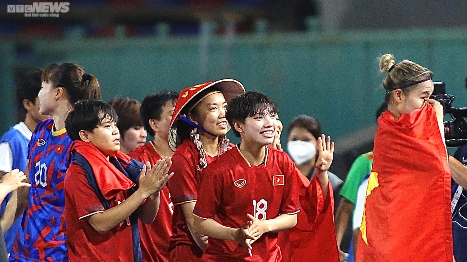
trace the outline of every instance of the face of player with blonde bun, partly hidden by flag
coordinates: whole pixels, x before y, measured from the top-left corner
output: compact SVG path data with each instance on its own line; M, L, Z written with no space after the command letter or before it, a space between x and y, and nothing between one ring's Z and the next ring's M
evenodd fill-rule
M425 99L429 98L433 93L433 81L428 80L421 82L414 87L409 87L410 90L403 92L401 89L393 91L393 101L396 101L396 108L399 114L409 114L417 108L424 105Z

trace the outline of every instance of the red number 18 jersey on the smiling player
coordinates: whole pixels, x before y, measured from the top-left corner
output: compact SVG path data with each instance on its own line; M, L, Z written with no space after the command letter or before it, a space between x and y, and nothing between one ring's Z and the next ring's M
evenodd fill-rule
M247 214L260 220L300 211L299 174L289 155L266 147L264 164L252 166L237 148L221 155L203 170L193 214L240 228ZM253 256L238 242L209 238L204 261L276 262L282 258L277 233L266 233L252 245Z

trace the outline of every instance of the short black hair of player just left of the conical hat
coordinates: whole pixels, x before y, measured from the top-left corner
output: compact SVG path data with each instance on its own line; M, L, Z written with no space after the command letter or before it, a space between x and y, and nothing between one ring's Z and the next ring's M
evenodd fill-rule
M141 102L140 114L144 128L149 135L154 137L154 130L149 125L149 119L161 120L162 107L167 103L175 105L178 99L178 92L160 91L156 94L147 95Z

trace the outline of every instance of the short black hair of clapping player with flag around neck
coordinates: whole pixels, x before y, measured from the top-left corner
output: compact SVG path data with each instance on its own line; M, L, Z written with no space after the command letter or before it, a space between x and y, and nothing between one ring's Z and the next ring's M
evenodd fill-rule
M68 114L65 128L71 140L81 140L79 131L92 132L107 117L110 117L110 121L118 121L117 113L106 102L96 99L79 100Z

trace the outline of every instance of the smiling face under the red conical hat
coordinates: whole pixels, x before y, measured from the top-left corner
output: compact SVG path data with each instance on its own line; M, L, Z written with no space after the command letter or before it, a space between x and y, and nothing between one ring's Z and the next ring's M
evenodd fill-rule
M211 134L221 136L227 134L226 110L227 101L224 95L218 92L205 97L194 108L194 114L190 114L190 118Z

